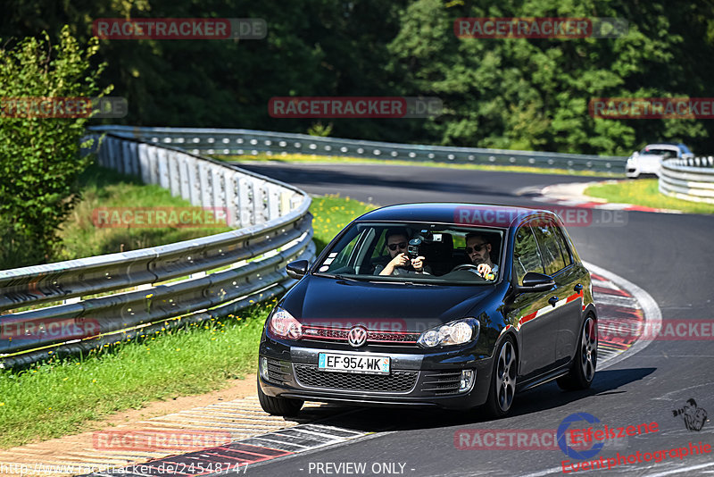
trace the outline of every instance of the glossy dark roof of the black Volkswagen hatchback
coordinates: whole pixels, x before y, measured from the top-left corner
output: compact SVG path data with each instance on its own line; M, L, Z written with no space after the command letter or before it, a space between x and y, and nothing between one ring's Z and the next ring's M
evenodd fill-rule
M387 205L361 215L359 222L431 222L468 226L509 227L529 215L557 217L547 210L511 205L431 202ZM556 222L557 223L557 222Z

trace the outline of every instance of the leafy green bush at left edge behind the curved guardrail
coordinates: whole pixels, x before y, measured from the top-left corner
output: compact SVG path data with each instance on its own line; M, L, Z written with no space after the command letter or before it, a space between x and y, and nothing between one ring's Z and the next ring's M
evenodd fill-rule
M97 48L92 40L82 50L65 27L57 45L45 34L0 50L0 97L97 96L104 68L90 66ZM0 114L0 263L10 267L54 255L57 228L79 201L77 178L91 161L79 157L87 118L28 116Z

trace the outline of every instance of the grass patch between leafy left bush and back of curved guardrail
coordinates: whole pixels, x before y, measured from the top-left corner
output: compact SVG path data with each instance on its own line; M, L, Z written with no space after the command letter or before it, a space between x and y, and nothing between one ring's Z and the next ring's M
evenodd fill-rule
M62 224L62 251L55 261L155 247L231 230L225 224L201 228L98 228L93 222L93 212L101 207L153 210L154 207L192 205L181 197L171 197L165 188L145 185L135 177L96 165L89 167L80 181L83 198Z

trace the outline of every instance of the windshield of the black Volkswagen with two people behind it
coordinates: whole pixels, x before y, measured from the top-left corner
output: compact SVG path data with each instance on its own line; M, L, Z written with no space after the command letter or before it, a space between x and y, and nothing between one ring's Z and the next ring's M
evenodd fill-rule
M494 284L504 230L422 222L356 222L318 274L369 281Z

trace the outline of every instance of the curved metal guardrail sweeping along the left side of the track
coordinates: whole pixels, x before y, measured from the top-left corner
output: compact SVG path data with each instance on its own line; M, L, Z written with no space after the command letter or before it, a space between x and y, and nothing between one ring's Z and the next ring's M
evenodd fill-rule
M0 312L63 301L0 315L0 367L34 362L47 356L48 347L54 356L87 351L153 326L173 326L186 314L192 315L183 323L235 313L291 287L295 280L287 277L285 265L315 255L311 199L298 188L112 134L95 152L99 163L170 188L193 205L232 210L240 229L0 271ZM162 284L177 278L184 280ZM117 290L125 291L112 293ZM105 296L90 297L98 294ZM78 331L79 338L72 334Z

